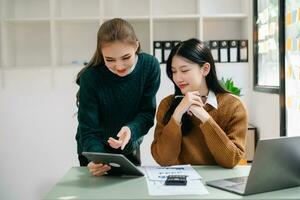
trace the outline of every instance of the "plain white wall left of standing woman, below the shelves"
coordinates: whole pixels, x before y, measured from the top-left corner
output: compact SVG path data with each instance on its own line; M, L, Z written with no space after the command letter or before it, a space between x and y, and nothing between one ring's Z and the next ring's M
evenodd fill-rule
M5 72L0 90L0 199L41 199L78 165L77 70Z

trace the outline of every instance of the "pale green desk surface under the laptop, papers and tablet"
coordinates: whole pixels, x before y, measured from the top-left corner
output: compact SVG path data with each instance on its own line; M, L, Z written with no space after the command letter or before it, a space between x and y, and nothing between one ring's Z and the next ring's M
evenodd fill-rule
M194 166L203 181L247 176L250 166L224 169L218 166ZM275 175L276 176L276 175ZM145 177L93 177L85 167L73 167L45 196L46 199L300 199L300 187L249 196L206 186L207 195L149 196Z

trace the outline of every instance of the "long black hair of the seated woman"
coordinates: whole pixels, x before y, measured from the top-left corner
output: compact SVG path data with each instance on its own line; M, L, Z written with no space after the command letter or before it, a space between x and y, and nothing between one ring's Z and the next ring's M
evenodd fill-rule
M169 58L167 60L167 76L173 82L175 87L175 95L182 95L180 89L173 81L173 73L172 73L172 60L175 55L186 58L194 63L199 64L199 67L203 67L205 63L210 64L210 71L208 75L205 77L206 85L209 90L212 90L215 94L218 93L229 93L225 90L218 78L216 73L215 62L209 47L207 47L203 42L198 39L192 38L183 42L178 43L171 51ZM167 124L173 115L176 107L181 102L181 98L175 99L173 97L169 110L166 112L163 118L163 122ZM182 116L182 126L181 130L183 134L187 134L192 128L190 117L185 113Z

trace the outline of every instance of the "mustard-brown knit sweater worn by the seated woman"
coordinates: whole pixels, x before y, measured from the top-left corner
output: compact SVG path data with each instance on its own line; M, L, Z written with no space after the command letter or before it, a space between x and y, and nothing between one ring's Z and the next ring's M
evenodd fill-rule
M234 167L244 156L248 127L247 112L240 99L232 94L217 94L218 109L209 104L205 110L210 118L202 123L192 117L191 132L182 135L181 125L173 117L167 124L163 117L173 95L158 107L151 153L160 165L192 164Z

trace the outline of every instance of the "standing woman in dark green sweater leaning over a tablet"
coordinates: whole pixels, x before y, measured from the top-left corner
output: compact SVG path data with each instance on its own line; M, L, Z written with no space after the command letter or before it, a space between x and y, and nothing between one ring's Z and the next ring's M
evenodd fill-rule
M115 18L101 25L96 52L76 83L80 166L88 166L95 176L110 170L87 160L84 151L121 153L140 164L135 154L153 126L160 67L153 56L140 53L130 23Z

